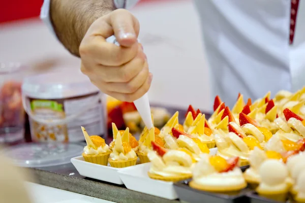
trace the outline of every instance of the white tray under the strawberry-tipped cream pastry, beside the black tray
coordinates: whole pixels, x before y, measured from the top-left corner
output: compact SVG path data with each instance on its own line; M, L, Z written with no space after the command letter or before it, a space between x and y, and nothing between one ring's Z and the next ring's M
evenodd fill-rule
M210 154L215 155L217 148L210 149ZM174 190L173 182L154 180L148 177L150 163L143 163L127 168L121 168L118 171L119 177L124 185L137 192L159 196L166 199L178 198Z

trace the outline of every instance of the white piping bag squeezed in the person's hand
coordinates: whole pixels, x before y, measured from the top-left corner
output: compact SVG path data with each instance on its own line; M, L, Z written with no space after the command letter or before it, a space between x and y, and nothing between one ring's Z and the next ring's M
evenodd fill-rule
M120 46L114 36L107 38L106 41L113 43L117 46ZM138 40L138 42L139 42L139 40ZM154 127L153 121L151 120L151 113L150 113L150 106L149 106L149 99L148 99L147 92L141 98L138 98L137 100L135 100L134 104L135 104L144 124L146 125L147 129Z

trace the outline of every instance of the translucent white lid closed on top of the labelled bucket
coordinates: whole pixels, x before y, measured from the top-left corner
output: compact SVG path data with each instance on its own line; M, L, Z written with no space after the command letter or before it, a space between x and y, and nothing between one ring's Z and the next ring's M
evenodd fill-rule
M80 71L62 71L27 77L22 94L31 98L61 99L99 91Z

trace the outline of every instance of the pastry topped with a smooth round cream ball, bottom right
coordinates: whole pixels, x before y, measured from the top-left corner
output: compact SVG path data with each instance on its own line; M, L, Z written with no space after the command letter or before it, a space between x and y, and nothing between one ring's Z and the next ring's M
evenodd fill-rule
M276 201L285 201L290 187L287 166L276 159L264 161L259 169L261 182L256 188L260 196Z

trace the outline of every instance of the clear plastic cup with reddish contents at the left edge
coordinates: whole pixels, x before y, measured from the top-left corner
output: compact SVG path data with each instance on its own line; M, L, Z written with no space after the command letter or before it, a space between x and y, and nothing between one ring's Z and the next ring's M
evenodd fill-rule
M0 143L24 139L21 82L25 67L17 62L0 63Z

